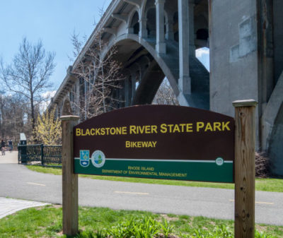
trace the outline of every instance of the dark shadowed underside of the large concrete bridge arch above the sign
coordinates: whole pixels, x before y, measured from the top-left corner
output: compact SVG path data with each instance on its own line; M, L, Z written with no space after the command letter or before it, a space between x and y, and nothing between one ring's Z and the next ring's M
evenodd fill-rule
M125 83L129 84L129 90L123 90L125 105L151 104L165 77L161 67L139 42L122 40L115 47L116 59L123 66Z

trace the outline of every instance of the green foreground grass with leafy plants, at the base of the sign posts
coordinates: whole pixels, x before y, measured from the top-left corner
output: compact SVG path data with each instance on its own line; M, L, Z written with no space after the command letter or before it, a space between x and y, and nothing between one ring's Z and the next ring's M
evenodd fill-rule
M137 221L141 221L144 225L148 224L148 222L151 223L150 231L147 230L146 226L141 229L141 226L137 225L141 223ZM160 226L160 224L163 226ZM76 237L98 238L96 231L100 230L103 234L108 232L108 234L112 234L113 238L116 238L119 237L117 235L119 232L129 232L132 229L131 227L135 227L135 232L143 232L143 234L153 232L153 228L158 227L159 230L156 232L165 234L167 231L178 237L233 237L233 221L231 220L86 207L79 208L79 229L81 233ZM256 225L256 230L256 238L283 237L283 227ZM51 205L29 208L8 215L6 218L0 219L0 237L65 237L62 235L62 207ZM121 236L121 238L125 237L127 236Z

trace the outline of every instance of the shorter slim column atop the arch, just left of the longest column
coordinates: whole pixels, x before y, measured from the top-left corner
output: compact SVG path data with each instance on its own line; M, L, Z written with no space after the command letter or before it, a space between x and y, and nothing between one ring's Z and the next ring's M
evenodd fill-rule
M164 4L165 0L156 0L156 51L166 54L166 43L164 33Z

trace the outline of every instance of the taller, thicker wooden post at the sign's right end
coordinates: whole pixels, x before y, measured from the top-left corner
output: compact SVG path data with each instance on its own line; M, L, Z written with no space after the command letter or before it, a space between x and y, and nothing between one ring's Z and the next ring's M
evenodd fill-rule
M235 238L255 237L255 100L235 107Z

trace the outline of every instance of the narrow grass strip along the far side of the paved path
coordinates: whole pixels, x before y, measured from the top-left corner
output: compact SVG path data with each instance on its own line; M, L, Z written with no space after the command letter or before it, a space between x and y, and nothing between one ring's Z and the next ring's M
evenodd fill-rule
M54 167L41 167L35 165L27 165L28 169L35 172L42 172L47 174L61 175L61 168ZM233 189L233 184L221 184L221 183L204 183L204 182L189 182L189 181L177 181L177 180L161 180L161 179L137 179L137 178L125 178L125 177L109 177L109 176L95 176L80 174L79 177L87 177L91 179L102 179L121 182L132 183L144 183L144 184L166 184L177 186L199 186L218 189ZM255 179L255 189L257 191L276 191L283 192L283 179Z

